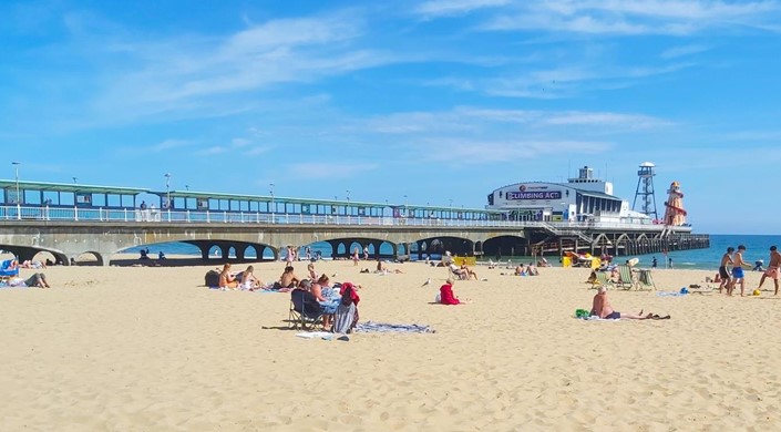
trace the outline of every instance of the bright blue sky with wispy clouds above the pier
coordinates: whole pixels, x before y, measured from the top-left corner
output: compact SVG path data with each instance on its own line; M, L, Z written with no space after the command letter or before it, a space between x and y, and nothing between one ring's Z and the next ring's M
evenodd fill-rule
M657 165L700 233L781 234L781 2L3 1L20 177L482 207ZM661 209L660 209L661 210Z

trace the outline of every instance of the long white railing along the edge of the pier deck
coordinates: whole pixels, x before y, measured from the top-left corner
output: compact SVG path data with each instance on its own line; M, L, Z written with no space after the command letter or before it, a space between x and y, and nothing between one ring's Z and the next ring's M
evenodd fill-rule
M122 223L199 223L199 224L280 224L280 225L358 225L431 227L507 227L546 228L559 234L578 234L585 229L641 229L660 232L664 225L619 224L615 222L534 222L411 218L390 216L345 216L268 214L224 210L168 210L133 208L24 207L0 206L0 220L74 220Z

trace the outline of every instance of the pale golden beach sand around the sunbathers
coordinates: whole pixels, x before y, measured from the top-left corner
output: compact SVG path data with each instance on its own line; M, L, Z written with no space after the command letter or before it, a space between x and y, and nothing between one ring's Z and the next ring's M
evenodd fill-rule
M268 281L282 264L255 267ZM584 321L573 315L595 294L586 269L515 277L476 267L487 281L458 281L456 296L472 302L448 307L431 304L443 268L361 267L373 264L317 264L364 287L361 320L436 332L298 338L287 329L289 295L209 290L213 266L53 267L52 289L0 289L0 430L781 428L772 292L610 290L619 311L672 318ZM296 269L304 276L306 264ZM654 272L660 290L676 291L712 274ZM748 272L750 290L759 277Z

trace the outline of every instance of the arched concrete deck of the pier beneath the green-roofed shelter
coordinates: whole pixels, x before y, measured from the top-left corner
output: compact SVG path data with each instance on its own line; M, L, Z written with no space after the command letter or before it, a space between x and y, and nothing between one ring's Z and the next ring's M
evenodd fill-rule
M0 207L0 215L7 208ZM7 214L7 213L6 213ZM445 250L460 256L516 256L542 254L561 256L564 250L590 251L614 256L707 248L707 235L693 235L662 226L610 227L506 220L431 220L386 218L299 219L286 224L254 222L148 222L135 219L41 220L0 216L0 248L20 260L33 259L49 251L58 261L69 264L82 254L94 255L100 265L110 265L112 255L134 246L184 241L198 247L202 259L214 261L257 261L246 258L280 253L288 246L304 247L327 241L335 258L347 258L353 246L366 246L372 258L389 244L390 256L401 254L422 259L425 254ZM209 256L213 248L220 257ZM267 250L270 254L265 254Z

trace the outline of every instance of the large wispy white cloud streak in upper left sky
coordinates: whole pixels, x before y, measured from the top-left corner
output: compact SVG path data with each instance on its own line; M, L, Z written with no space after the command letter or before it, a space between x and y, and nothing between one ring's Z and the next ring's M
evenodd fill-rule
M246 97L236 103L236 97L248 92L399 60L390 52L357 48L363 35L361 18L341 13L268 21L225 38L107 42L109 48L95 48L120 53L125 61L130 58L131 64L107 78L106 91L95 102L95 110L119 112L125 117L232 114L257 104Z

